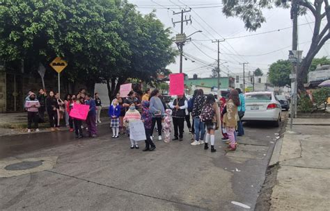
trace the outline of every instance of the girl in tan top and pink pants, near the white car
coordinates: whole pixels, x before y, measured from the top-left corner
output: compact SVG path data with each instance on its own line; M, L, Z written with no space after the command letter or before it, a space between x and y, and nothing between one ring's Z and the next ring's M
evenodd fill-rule
M228 150L236 150L235 130L237 128L237 107L239 106L239 95L237 90L231 90L227 102L227 112L223 116L223 124L226 126L228 139L230 141Z

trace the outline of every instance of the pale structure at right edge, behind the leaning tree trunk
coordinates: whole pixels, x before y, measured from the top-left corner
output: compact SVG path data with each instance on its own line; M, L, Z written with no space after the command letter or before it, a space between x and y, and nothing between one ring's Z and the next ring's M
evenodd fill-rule
M330 65L317 65L315 71L308 73L306 88L313 89L323 81L330 79Z

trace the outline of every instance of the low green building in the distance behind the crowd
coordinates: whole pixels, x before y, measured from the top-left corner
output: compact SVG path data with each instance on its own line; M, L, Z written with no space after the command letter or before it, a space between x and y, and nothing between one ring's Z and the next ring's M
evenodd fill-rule
M187 94L193 94L194 90L202 89L205 94L217 94L218 78L185 78L184 85ZM235 79L233 77L220 78L220 90L228 91L228 87L235 87Z

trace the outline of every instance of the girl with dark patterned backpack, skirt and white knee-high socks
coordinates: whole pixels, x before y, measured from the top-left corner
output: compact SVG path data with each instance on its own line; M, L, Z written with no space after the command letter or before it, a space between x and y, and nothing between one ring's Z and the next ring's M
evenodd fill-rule
M205 137L204 149L209 149L208 143L211 141L211 152L214 153L217 150L214 148L214 131L219 129L220 115L219 107L215 102L213 94L207 94L206 101L201 112L201 121L205 123L207 133Z

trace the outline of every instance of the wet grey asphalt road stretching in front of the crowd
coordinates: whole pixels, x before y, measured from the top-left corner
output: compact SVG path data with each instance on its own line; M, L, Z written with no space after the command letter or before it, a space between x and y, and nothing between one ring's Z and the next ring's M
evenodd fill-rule
M0 210L253 210L281 127L244 128L228 153L219 130L216 153L191 146L188 133L183 142L155 141L156 151L142 152L143 142L129 149L128 137L111 140L108 125L95 139L68 131L0 137L1 160L57 157L51 170L0 178Z

